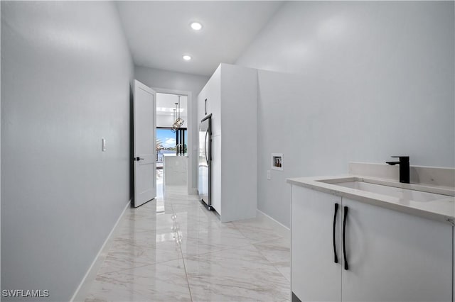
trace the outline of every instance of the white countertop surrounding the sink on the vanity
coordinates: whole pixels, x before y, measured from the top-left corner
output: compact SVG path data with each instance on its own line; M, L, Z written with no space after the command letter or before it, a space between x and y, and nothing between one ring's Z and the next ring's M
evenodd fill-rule
M324 182L322 182L324 181ZM434 194L442 194L446 197L434 201L412 201L393 196L372 193L359 189L351 189L338 186L336 183L344 181L363 181L370 184L394 186L396 188L424 191ZM287 182L296 186L304 186L309 189L322 191L336 196L346 197L355 201L369 203L382 208L390 208L395 211L408 213L423 218L439 220L455 225L455 188L448 186L429 186L420 184L402 184L390 179L379 179L361 175L341 175L327 177L299 177L287 179Z

